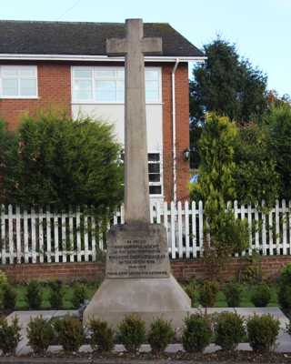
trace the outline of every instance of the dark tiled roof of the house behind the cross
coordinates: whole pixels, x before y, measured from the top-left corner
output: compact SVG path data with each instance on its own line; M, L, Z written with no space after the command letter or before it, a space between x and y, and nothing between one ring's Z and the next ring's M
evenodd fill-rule
M145 23L144 33L162 37L161 56L204 56L169 24ZM113 37L125 37L125 24L1 20L0 54L105 56Z

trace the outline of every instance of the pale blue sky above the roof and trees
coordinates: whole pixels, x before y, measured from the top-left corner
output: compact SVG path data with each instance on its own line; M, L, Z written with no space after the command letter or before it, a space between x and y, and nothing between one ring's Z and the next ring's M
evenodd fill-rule
M268 88L291 96L291 0L0 0L0 18L80 22L170 23L202 48L217 35L235 43L268 76Z

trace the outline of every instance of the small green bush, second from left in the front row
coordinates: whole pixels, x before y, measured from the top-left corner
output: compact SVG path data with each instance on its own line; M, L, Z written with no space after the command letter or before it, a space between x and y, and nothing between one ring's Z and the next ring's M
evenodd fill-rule
M30 319L27 325L27 339L35 354L44 354L54 339L54 329L51 320L42 316Z

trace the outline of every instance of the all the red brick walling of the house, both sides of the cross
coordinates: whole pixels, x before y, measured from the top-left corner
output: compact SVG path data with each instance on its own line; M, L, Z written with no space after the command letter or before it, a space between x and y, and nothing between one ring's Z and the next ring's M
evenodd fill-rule
M48 108L64 109L71 113L70 64L38 62L38 99L0 99L0 116L15 129L25 113L35 114ZM90 64L91 66L95 66ZM115 66L115 65L113 65ZM152 65L151 65L152 66ZM166 201L173 200L173 144L172 144L172 70L174 64L163 66L163 142L164 193ZM189 147L188 68L186 63L176 69L176 183L177 199L188 197L189 164L183 151Z

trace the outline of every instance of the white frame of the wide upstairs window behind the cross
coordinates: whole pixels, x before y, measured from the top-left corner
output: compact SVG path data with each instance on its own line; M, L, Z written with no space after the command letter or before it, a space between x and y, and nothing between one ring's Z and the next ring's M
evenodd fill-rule
M75 76L74 76L74 71L77 68L91 68L91 87L92 87L92 93L91 96L92 98L89 100L78 100L77 98L75 98L75 91L74 91L74 81L75 81ZM124 105L124 102L120 102L120 101L97 101L95 99L95 69L98 70L112 70L113 68L115 68L115 70L121 70L124 69L124 66L71 66L71 99L72 99L72 104L81 104L81 105ZM161 105L162 104L162 69L160 66L150 66L150 67L145 67L146 70L158 70L158 100L157 101L150 101L150 102L146 102L146 105ZM76 77L77 78L77 77Z

